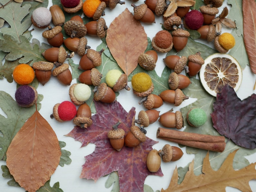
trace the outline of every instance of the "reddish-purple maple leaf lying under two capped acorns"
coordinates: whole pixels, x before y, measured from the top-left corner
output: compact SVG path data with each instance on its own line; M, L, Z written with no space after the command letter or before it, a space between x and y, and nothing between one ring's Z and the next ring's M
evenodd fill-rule
M81 178L94 179L117 171L121 191L143 191L143 183L148 175L162 176L161 169L150 172L146 167L146 158L152 145L156 144L150 138L134 148L123 147L121 151L112 148L107 133L112 126L120 121L118 128L126 133L130 130L135 115L133 107L127 113L118 101L107 104L95 102L97 113L92 116L93 124L87 129L74 127L66 136L82 142L82 147L88 143L96 145L92 154L85 157Z

